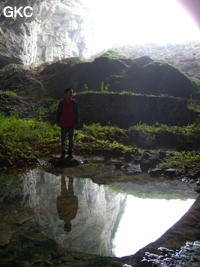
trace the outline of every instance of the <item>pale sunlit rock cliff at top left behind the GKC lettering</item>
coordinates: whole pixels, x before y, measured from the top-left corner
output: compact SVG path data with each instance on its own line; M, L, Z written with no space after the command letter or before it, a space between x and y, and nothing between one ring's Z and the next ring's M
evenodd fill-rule
M0 67L87 56L87 8L83 0L4 0L5 6L32 6L30 18L0 17Z

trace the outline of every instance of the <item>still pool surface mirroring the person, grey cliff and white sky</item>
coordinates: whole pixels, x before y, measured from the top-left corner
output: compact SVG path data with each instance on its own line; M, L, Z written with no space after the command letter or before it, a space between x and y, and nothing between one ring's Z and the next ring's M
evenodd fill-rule
M90 178L39 169L24 176L23 196L38 228L60 246L117 257L158 239L196 198L179 181L98 185Z

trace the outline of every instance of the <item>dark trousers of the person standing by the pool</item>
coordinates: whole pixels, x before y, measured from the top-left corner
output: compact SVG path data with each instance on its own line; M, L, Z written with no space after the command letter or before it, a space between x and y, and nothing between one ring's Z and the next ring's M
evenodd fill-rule
M69 140L68 154L72 154L74 148L74 127L70 126L61 126L61 152L62 154L65 153L67 134Z

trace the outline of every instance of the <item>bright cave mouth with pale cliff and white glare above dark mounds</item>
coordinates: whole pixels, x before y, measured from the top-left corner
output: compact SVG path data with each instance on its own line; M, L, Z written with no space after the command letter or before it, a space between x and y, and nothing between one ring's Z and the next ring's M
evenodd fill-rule
M118 46L200 41L198 26L179 1L36 1L33 19L1 17L2 66L88 59Z

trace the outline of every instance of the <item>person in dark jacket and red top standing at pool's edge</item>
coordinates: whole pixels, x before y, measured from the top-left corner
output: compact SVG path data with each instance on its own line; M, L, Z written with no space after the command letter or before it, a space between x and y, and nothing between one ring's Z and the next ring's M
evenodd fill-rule
M66 154L66 137L68 135L68 157L72 158L74 148L74 128L79 121L78 105L73 99L73 89L64 91L64 99L60 101L56 113L56 122L61 127L61 158Z

